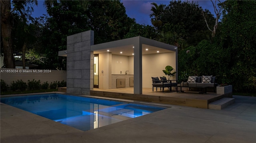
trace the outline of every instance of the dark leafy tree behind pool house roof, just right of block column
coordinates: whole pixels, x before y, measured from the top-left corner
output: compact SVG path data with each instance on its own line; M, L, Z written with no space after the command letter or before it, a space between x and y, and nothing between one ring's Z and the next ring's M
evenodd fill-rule
M91 1L88 18L94 30L94 44L123 39L134 24L120 0Z

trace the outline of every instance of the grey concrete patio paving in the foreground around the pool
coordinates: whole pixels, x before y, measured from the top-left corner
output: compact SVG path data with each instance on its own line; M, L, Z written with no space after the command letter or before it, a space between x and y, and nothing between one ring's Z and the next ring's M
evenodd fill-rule
M1 143L255 143L256 97L223 110L179 105L81 131L1 103Z

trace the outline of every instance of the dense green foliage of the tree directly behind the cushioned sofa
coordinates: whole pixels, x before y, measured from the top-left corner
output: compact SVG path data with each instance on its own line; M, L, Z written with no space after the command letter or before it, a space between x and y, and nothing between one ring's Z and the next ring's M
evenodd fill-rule
M179 73L186 72L189 75L217 76L218 82L231 84L230 79L230 52L223 49L218 43L212 44L203 40L196 47L190 46L178 53Z

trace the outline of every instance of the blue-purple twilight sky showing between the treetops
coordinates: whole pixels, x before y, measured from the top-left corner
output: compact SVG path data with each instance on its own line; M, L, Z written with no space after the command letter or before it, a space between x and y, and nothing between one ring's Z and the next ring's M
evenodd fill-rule
M46 14L43 2L44 0L38 0L38 6L34 7L34 13L32 14L32 16L39 17L43 16L43 14ZM128 17L135 18L138 24L151 25L149 16L151 13L150 9L152 7L151 3L155 2L158 5L168 5L170 3L170 0L121 0L121 2L126 8L126 14L128 15ZM210 0L194 0L194 2L198 2L199 6L201 6L203 9L210 10L210 12L214 14L214 9Z

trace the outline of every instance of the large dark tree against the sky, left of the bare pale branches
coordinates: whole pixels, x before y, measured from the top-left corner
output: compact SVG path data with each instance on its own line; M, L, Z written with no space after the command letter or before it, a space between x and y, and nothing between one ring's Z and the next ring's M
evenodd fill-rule
M208 30L204 17L201 15L204 12L209 26L213 27L214 17L208 10L202 10L202 8L195 2L189 1L170 1L164 12L160 17L162 21L161 31L168 31L171 33L177 33L181 35L188 44L196 45L203 39L206 39L206 35L211 34ZM171 27L164 26L169 24ZM173 26L173 27L172 27ZM198 37L198 35L200 35Z

